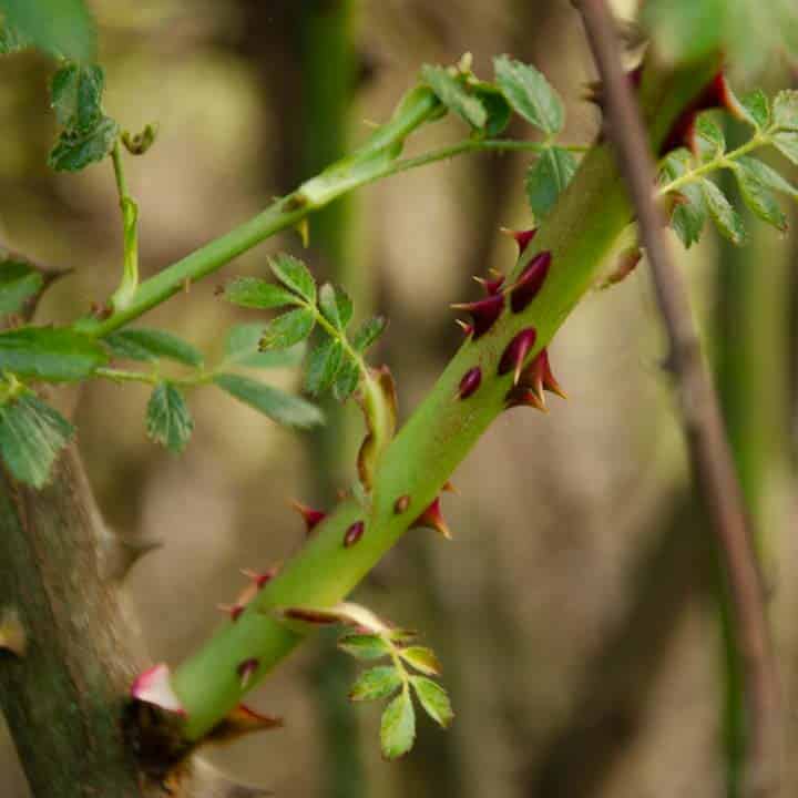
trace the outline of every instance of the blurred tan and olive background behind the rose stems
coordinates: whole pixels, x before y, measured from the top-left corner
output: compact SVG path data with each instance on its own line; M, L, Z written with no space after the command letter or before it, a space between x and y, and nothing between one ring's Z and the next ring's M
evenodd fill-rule
M566 101L563 140L590 142L593 78L567 0L92 0L106 109L160 136L127 160L141 207L145 274L263 208L388 117L420 65L473 53L490 78L508 52L542 69ZM628 13L632 2L616 3ZM40 319L66 320L115 287L121 225L110 162L57 175L50 66L0 63L0 239L74 269ZM760 83L789 84L774 71ZM534 135L513 123L515 137ZM409 152L457 141L457 122ZM734 131L729 132L734 137ZM474 274L515 257L499 227L530 225L523 153L479 154L396 176L310 218L227 267L263 274L266 255L301 254L341 283L356 313L390 319L376 362L396 377L402 417L460 342L450 301ZM784 168L784 166L781 166ZM796 175L798 176L798 175ZM795 207L790 208L795 221ZM694 288L744 489L756 522L781 665L789 751L798 732L798 512L795 345L798 255L748 218L748 245L714 233L679 254ZM216 275L152 313L211 356L221 330L254 320L214 297ZM722 580L686 473L645 265L577 307L551 347L570 401L500 418L443 499L447 542L413 531L357 592L419 630L444 665L457 719L420 719L409 757L380 759L379 710L346 699L354 668L331 637L303 646L252 698L283 730L214 753L285 798L720 796L740 750L738 672L724 632ZM274 380L297 387L294 371ZM216 604L301 543L289 498L324 507L354 477L361 430L349 408L295 434L211 389L190 397L196 429L175 458L145 438L144 387L91 383L59 397L104 515L131 538L162 539L129 580L154 662L177 663L223 622ZM23 798L7 737L2 795ZM728 761L732 761L729 766ZM798 769L786 794L798 789ZM734 782L734 778L733 778Z

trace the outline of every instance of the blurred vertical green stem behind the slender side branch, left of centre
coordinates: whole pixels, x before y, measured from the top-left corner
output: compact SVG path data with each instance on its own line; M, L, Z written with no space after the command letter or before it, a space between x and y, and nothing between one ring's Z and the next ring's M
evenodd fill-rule
M357 73L354 42L354 0L304 0L299 3L301 41L301 170L303 178L321 172L349 150L349 121ZM338 197L314 215L309 246L332 283L345 286L359 314L371 309L372 280L356 247L354 196ZM314 258L315 259L315 258ZM326 323L326 319L319 319ZM328 331L330 331L328 329ZM337 330L331 334L339 337ZM346 337L341 341L349 346ZM371 385L368 371L367 386ZM356 419L338 402L324 403L327 423L308 436L314 494L321 507L335 499L335 485L351 479ZM358 715L347 699L355 678L351 659L330 652L325 640L314 671L327 798L365 798L367 784L361 756Z

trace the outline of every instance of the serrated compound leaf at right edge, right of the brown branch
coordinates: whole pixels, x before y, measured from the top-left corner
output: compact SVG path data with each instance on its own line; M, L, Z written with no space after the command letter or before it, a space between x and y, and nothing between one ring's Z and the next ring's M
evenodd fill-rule
M699 239L707 217L720 235L734 244L743 244L746 239L739 213L718 185L706 176L713 172L730 171L745 205L755 216L779 231L787 228L787 217L776 194L798 200L795 186L749 154L770 146L798 164L798 91L779 92L771 103L757 90L741 98L738 106L751 130L747 143L728 152L720 126L710 113L703 113L695 122L693 152L685 147L674 150L661 165L659 183L672 204L671 226L685 247Z

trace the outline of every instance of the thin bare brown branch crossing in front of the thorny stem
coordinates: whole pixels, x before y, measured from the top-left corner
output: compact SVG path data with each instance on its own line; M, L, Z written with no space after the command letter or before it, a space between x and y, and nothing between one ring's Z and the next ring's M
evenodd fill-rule
M607 134L637 213L659 310L669 338L668 365L676 376L693 471L720 548L735 613L736 640L747 688L748 795L779 788L778 678L767 628L765 598L747 513L735 473L717 397L704 366L681 272L675 267L654 203L655 171L640 112L618 58L604 0L575 0L603 81Z

